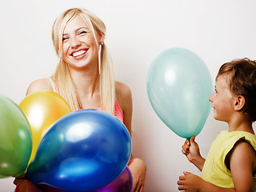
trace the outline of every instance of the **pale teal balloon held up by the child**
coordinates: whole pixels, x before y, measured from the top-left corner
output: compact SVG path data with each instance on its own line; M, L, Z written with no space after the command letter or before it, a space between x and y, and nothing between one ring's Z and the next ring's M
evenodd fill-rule
M210 112L213 82L194 52L171 48L151 63L146 80L150 103L162 122L182 138L198 135Z

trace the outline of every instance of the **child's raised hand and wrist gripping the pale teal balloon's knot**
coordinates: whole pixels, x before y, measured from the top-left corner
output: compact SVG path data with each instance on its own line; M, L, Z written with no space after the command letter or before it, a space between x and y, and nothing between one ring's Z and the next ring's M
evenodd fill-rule
M193 163L194 166L198 167L199 170L202 170L202 166L205 163L206 159L202 158L198 143L194 142L194 136L190 138L190 142L188 140L185 141L182 146L182 154L186 155L186 158L189 162Z

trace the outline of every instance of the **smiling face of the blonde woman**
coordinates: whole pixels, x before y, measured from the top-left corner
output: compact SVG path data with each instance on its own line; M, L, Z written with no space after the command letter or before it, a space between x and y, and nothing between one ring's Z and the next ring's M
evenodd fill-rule
M62 56L70 67L80 68L90 63L98 64L98 44L94 33L81 16L66 24L62 35Z

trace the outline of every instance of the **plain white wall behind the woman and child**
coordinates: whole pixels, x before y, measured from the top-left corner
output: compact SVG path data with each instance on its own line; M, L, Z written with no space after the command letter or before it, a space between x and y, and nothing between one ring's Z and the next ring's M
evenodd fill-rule
M0 93L21 102L27 86L53 74L57 57L51 26L67 8L85 7L106 23L106 44L115 77L133 92L134 156L147 165L146 192L178 191L183 170L199 174L181 153L184 138L161 122L146 94L146 74L163 50L194 51L209 67L234 58L256 58L254 0L9 0L0 6ZM215 136L226 130L212 112L197 141L206 156ZM0 179L0 191L14 191L13 178ZM5 189L5 190L3 190Z

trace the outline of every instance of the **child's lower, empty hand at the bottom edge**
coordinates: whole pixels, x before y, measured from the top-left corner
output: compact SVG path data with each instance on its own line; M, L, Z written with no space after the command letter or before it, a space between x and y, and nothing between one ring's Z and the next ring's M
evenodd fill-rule
M183 174L184 175L181 175L178 178L178 190L186 190L188 192L199 191L199 187L203 182L203 179L186 171L184 171Z

